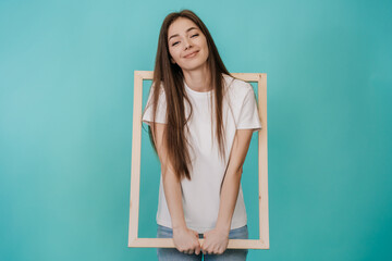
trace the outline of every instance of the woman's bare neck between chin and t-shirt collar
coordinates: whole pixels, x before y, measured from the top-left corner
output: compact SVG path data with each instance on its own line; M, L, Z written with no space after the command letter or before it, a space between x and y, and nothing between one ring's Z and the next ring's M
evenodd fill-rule
M183 70L186 85L195 91L211 90L210 74L207 64L193 71Z

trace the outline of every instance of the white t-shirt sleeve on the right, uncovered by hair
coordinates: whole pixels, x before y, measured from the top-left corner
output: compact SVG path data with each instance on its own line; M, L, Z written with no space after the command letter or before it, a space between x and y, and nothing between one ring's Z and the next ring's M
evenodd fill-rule
M240 112L237 129L254 129L261 128L260 117L257 110L257 103L255 92L249 85L243 100L243 104Z

